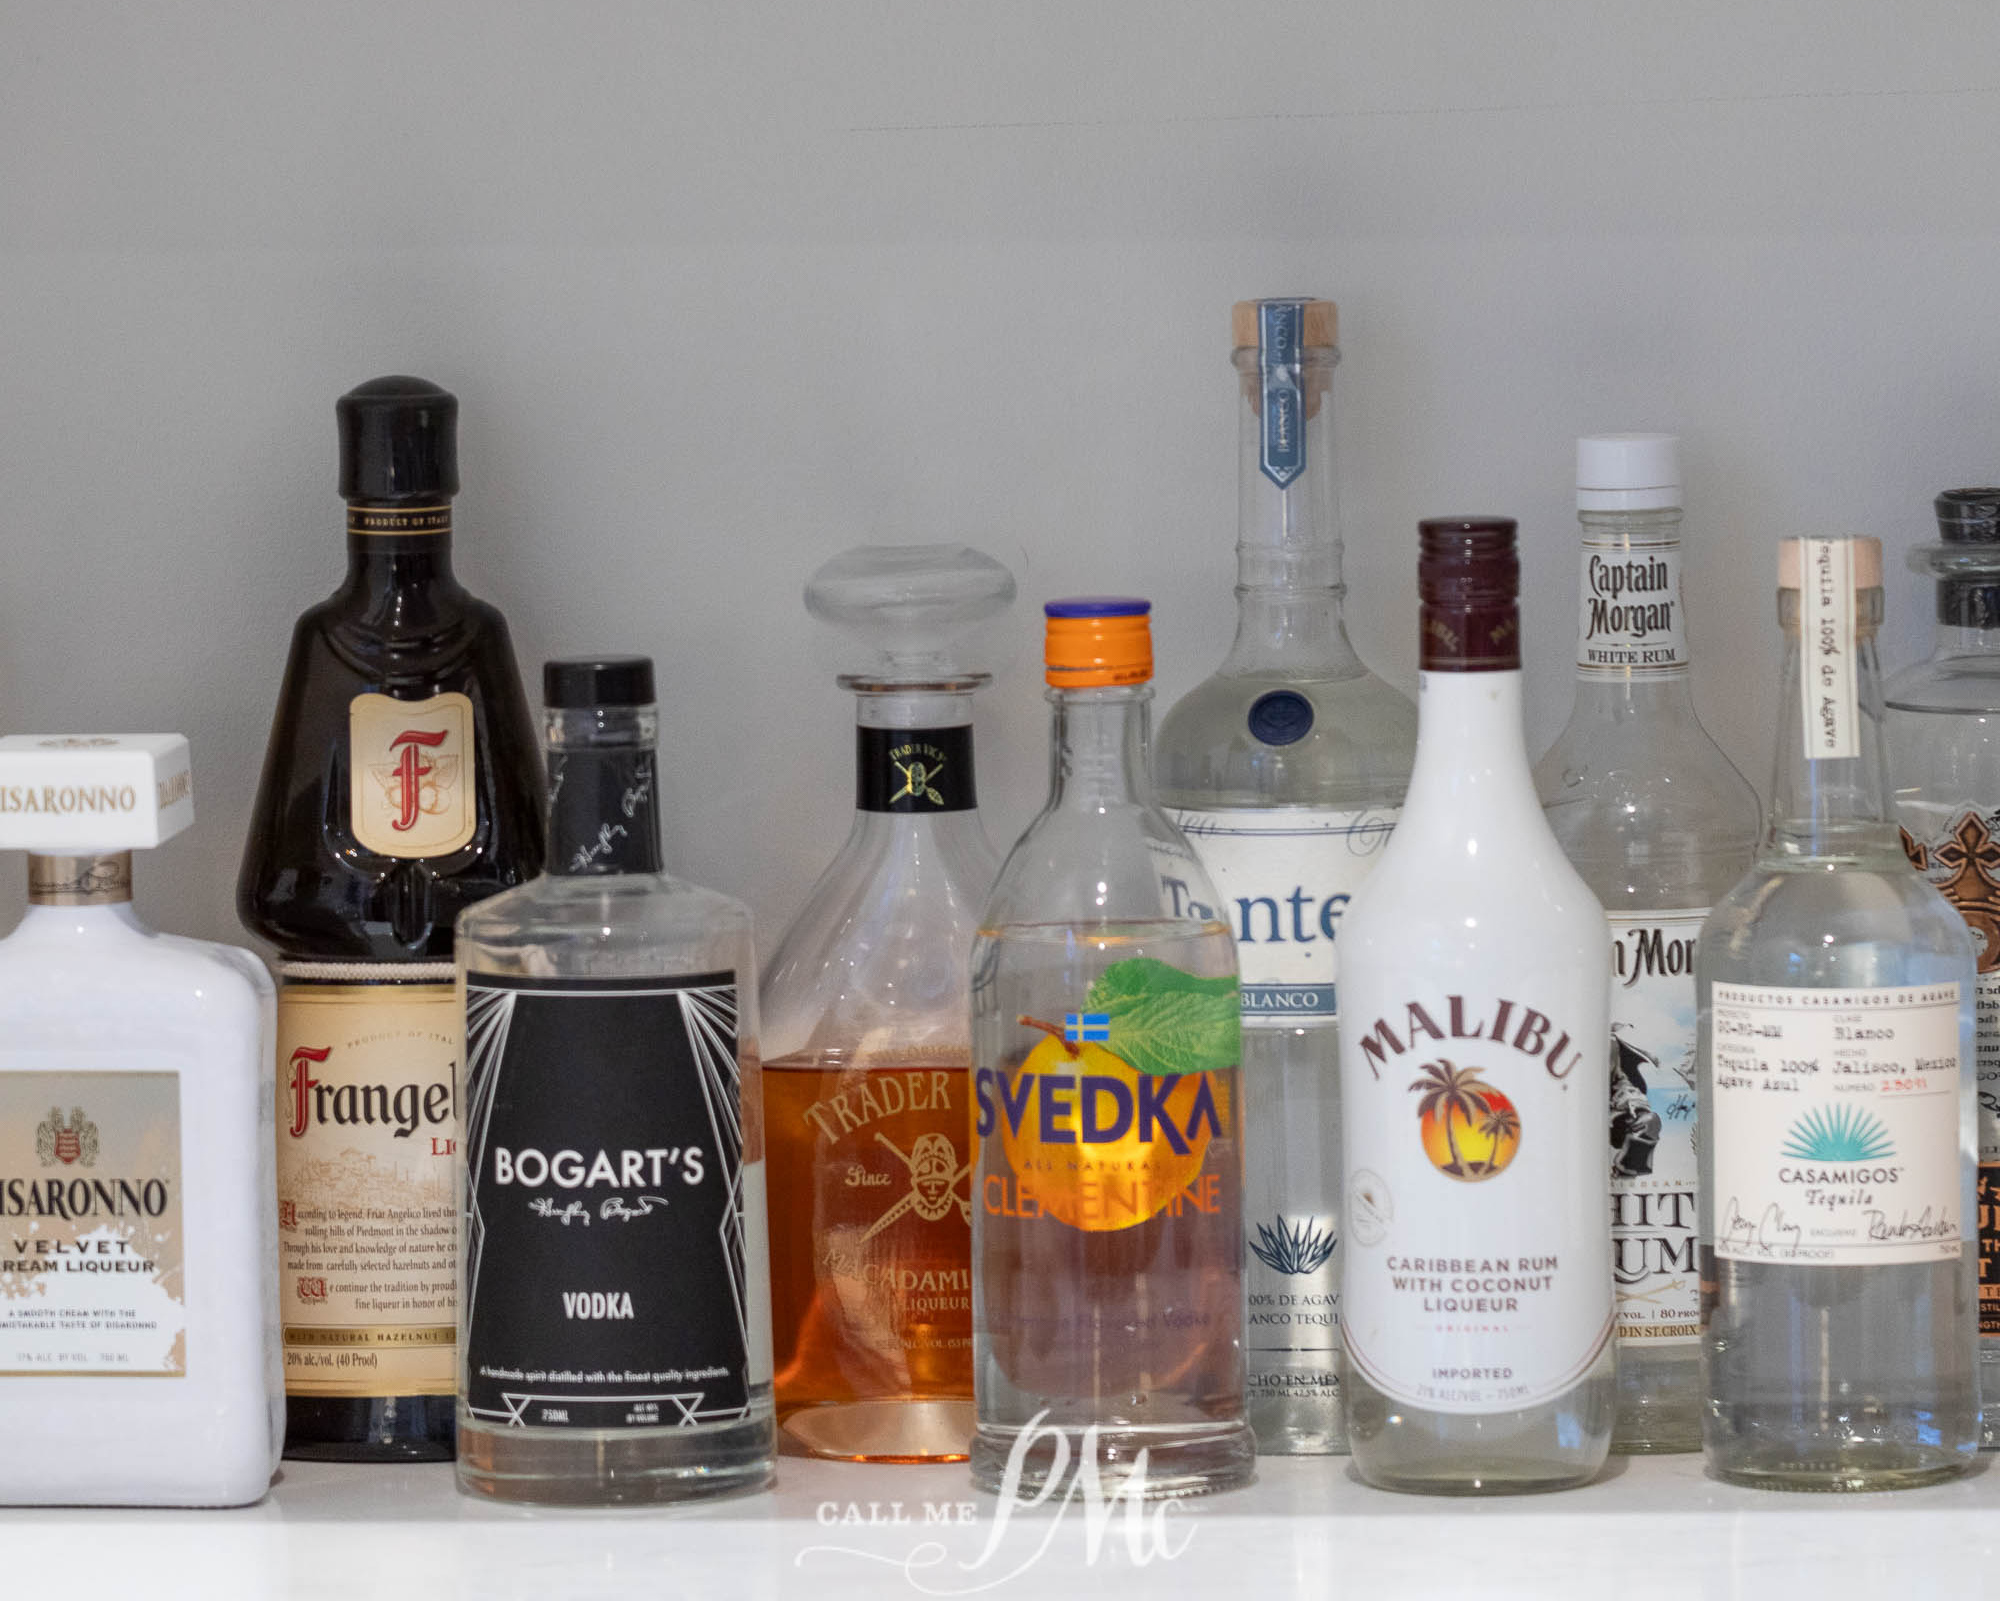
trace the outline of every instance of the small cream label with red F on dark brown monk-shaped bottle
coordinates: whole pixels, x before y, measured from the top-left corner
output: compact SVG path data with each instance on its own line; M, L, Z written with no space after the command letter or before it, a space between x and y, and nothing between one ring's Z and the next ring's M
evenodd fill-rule
M448 857L478 829L472 700L436 694L348 704L348 809L358 839L384 857Z

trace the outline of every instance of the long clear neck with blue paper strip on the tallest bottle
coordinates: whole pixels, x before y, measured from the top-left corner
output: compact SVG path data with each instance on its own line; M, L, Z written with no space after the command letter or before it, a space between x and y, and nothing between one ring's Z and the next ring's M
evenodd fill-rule
M1334 486L1334 362L1314 346L1286 360L1236 352L1236 670L1354 666L1340 616Z

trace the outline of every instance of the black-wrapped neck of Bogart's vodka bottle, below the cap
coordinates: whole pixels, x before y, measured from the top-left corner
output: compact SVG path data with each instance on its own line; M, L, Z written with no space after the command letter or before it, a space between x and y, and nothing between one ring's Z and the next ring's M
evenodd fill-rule
M548 873L558 879L660 873L652 706L550 708Z

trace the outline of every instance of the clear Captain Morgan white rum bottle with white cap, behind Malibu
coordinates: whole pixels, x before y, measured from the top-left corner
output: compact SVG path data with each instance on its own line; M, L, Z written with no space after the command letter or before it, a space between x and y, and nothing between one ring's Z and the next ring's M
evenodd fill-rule
M1612 939L1612 1451L1702 1449L1694 941L1758 841L1756 790L1694 714L1680 440L1576 440L1576 700L1534 784Z

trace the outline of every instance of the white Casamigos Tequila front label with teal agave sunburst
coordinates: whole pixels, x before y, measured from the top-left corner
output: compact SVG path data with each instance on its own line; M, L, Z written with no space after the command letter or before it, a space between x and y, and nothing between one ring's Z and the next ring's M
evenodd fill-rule
M1870 1267L1950 1261L1958 985L1716 985L1716 1255Z

